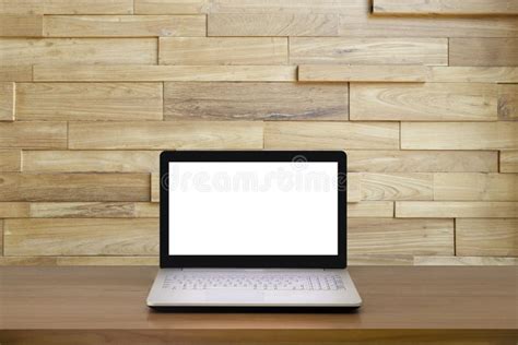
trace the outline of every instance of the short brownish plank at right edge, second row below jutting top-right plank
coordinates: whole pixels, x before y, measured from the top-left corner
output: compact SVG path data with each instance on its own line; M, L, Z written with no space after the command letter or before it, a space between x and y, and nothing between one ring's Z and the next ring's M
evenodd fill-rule
M450 38L449 66L518 66L518 38Z

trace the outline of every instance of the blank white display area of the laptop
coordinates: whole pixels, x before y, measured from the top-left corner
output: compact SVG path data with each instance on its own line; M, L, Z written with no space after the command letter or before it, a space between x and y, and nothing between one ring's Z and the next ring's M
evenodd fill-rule
M338 163L170 162L169 254L337 255Z

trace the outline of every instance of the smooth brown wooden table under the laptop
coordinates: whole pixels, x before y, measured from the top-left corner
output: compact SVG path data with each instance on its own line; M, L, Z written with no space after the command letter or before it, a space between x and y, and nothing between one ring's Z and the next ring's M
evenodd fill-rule
M0 343L515 344L518 267L351 267L364 306L348 314L158 313L156 267L2 267ZM364 343L363 343L364 344Z

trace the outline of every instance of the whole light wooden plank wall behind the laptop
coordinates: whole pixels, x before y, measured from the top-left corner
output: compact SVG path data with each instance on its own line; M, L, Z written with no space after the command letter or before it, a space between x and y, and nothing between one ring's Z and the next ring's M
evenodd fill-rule
M351 264L515 264L517 15L0 0L0 264L156 264L158 153L181 148L348 151Z

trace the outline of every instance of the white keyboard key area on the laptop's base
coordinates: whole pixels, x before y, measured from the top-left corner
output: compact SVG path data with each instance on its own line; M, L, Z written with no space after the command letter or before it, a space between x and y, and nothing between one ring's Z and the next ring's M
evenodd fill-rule
M345 289L338 274L275 273L176 273L162 286L173 290L254 289L254 290L339 290Z

